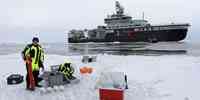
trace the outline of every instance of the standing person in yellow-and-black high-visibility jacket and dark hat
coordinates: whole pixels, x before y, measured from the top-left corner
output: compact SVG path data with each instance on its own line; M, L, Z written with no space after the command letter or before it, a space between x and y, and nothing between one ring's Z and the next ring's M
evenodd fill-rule
M43 62L44 62L44 51L39 45L39 38L38 37L33 37L32 43L28 44L24 50L22 51L22 57L23 60L26 62L28 58L31 58L32 60L32 73L33 77L35 80L35 86L36 87L41 87L38 83L42 80L39 78L39 70L40 68L44 70ZM26 62L26 70L27 70L27 75L26 75L26 89L30 89L30 81L28 77L28 63Z

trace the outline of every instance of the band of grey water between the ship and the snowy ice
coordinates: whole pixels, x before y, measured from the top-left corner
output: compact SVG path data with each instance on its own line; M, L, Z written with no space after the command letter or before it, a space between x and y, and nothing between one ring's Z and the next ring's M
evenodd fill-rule
M25 44L0 44L0 55L19 53ZM200 56L200 45L188 42L159 43L46 43L42 44L47 54L85 55L191 55Z

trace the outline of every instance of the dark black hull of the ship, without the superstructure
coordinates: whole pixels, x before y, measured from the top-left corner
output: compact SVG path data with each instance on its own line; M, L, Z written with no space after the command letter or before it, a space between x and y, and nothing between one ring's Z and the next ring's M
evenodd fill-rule
M187 29L135 31L134 29L118 29L108 33L104 38L73 39L69 43L83 42L159 42L159 41L180 41L185 39Z

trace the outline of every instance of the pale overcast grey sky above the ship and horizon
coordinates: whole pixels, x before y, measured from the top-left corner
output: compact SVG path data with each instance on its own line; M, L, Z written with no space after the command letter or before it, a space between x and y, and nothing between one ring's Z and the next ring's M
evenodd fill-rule
M118 0L125 13L152 24L190 23L187 40L199 40L198 0ZM115 10L115 0L0 0L0 43L28 42L40 32L42 42L63 42L70 29L103 25Z

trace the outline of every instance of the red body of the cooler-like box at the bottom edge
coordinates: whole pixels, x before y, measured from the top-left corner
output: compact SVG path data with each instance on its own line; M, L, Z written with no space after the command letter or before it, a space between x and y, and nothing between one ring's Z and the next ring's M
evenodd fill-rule
M100 100L123 100L124 90L122 89L99 89Z

